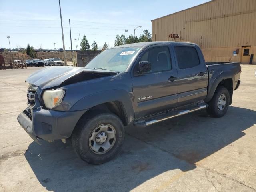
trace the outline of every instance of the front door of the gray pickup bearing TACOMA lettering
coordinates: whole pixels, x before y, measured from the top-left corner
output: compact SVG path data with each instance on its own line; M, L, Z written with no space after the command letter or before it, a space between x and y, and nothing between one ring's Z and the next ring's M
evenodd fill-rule
M169 44L150 46L135 63L132 84L136 119L178 106L178 74L169 49ZM150 72L138 73L140 61L151 63Z

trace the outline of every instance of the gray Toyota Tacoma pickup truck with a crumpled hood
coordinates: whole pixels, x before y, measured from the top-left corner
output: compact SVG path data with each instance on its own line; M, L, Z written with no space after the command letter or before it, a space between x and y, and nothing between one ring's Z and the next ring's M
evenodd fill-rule
M49 67L28 82L18 122L31 138L71 138L82 160L101 164L138 128L206 108L221 117L240 84L236 62L205 62L198 45L144 42L107 49L84 68Z

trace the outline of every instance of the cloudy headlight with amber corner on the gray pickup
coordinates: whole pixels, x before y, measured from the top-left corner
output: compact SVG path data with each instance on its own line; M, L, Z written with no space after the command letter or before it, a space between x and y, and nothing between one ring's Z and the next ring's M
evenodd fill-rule
M43 94L44 105L46 108L52 109L60 105L64 95L65 91L63 89L46 90Z

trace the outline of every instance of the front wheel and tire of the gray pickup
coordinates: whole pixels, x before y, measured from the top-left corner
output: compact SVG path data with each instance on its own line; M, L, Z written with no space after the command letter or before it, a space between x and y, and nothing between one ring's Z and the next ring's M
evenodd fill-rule
M113 135L114 138L109 139ZM105 138L102 138L104 136ZM82 160L90 164L108 162L120 152L123 143L124 125L120 118L112 113L82 116L72 134L74 150Z

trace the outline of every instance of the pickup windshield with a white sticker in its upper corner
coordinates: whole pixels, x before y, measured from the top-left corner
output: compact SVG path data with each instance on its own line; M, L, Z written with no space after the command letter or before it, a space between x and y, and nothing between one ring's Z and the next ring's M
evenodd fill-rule
M139 50L140 47L107 49L91 60L85 68L123 72Z

